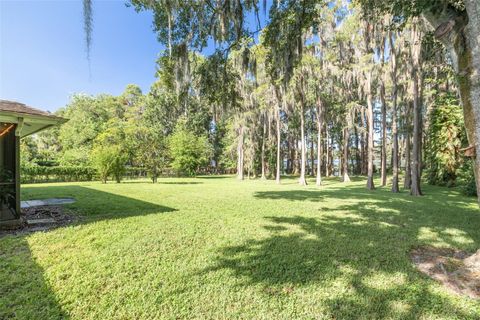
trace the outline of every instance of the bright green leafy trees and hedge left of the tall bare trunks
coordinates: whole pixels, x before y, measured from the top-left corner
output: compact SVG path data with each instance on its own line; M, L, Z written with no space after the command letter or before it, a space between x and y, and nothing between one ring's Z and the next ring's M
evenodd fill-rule
M57 114L69 119L22 141L22 180L88 181L209 173L209 122L187 117L162 92L135 85L111 95L75 95ZM191 109L190 109L191 108ZM192 114L198 110L190 106ZM224 172L224 171L221 171Z

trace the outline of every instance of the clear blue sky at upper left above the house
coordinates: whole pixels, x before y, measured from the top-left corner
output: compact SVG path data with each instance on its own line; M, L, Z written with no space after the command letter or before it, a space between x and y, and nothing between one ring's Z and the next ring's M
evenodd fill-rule
M55 111L74 93L148 92L164 47L152 14L123 0L93 1L91 66L81 0L0 0L0 98Z

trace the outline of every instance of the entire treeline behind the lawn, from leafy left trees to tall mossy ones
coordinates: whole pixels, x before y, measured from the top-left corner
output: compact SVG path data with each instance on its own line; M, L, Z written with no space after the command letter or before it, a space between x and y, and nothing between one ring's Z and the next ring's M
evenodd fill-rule
M25 141L23 163L91 166L104 182L139 167L153 181L165 170L298 174L302 185L355 174L374 189L379 174L393 192L420 195L422 177L476 192L458 81L422 19L368 20L344 2L270 17L258 39L209 57L168 43L146 94L74 96L58 112L69 122Z

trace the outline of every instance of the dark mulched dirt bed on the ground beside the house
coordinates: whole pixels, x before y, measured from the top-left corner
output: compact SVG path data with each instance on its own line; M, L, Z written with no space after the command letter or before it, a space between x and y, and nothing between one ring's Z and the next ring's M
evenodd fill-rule
M22 209L21 226L11 230L0 230L0 237L7 234L25 234L46 231L72 224L79 216L63 206L37 206Z

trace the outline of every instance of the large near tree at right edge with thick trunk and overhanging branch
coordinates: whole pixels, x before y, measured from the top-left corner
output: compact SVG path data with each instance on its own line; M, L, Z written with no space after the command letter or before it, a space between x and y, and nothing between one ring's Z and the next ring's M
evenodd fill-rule
M480 2L478 0L357 0L369 17L391 13L400 23L422 16L449 52L462 101L474 173L480 189ZM477 138L476 138L477 137ZM418 189L418 188L415 188ZM413 190L417 193L418 190ZM480 201L480 197L479 197Z

